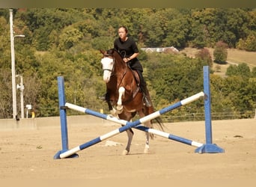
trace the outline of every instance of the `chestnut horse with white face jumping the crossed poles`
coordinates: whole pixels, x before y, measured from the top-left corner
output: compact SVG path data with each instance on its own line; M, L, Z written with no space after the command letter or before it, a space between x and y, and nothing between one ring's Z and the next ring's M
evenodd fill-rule
M135 114L139 117L147 116L154 112L153 105L147 107L143 102L143 93L139 87L138 74L132 70L127 63L123 61L121 54L115 49L107 51L100 50L103 54L101 64L103 67L103 81L106 82L106 102L109 105L109 111L112 115L121 120L132 120ZM149 98L150 99L150 98ZM151 102L152 103L152 102ZM162 120L157 117L161 129L163 129ZM153 128L152 120L143 124L148 128ZM130 145L134 132L127 129L127 147L123 155L129 154ZM146 132L146 143L144 153L149 153L149 140L153 134Z

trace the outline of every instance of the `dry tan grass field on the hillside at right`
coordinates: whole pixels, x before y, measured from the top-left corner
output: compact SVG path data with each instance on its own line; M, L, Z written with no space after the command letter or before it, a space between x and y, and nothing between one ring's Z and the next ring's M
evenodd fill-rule
M210 52L211 57L213 58L213 48L207 48ZM185 48L181 52L186 53L189 57L195 57L195 54L198 52L199 49L195 48ZM246 63L248 66L252 69L253 67L256 67L256 52L246 52L243 50L238 49L228 49L228 58L227 58L228 64L213 64L213 70L216 70L216 67L219 66L220 70L216 70L215 74L218 74L220 76L225 76L225 72L227 68L231 64L241 64Z

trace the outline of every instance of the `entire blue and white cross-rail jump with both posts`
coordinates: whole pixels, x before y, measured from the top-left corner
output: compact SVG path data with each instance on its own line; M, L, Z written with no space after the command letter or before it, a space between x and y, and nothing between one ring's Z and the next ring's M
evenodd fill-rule
M126 131L129 128L135 128L142 130L144 132L150 132L155 135L162 136L164 138L169 138L174 141L179 141L183 144L189 144L195 147L198 147L198 149L195 150L195 153L223 153L224 150L222 148L217 147L216 144L212 144L212 132L211 132L211 120L210 120L210 83L209 83L209 67L204 67L204 92L197 93L193 96L190 96L186 99L181 100L180 102L175 103L174 105L170 105L168 107L162 108L162 110L156 111L153 114L149 114L146 117L142 117L140 120L135 120L134 122L128 122L126 120L120 120L117 117L112 117L107 114L102 114L97 111L92 111L88 108L83 108L77 105L73 105L71 103L65 102L65 96L64 96L64 79L63 77L58 77L58 96L59 96L59 107L60 107L60 118L61 118L61 140L62 140L62 150L58 151L58 153L55 154L54 159L64 159L64 158L73 158L78 157L77 152L80 150L84 150L87 147L91 147L94 144L99 143L100 141L103 141L107 138L110 138L114 135L118 135L121 132ZM208 79L205 77L205 74L208 74ZM208 86L207 86L207 85ZM209 91L207 91L209 90ZM207 93L207 95L205 94ZM171 135L166 132L161 132L156 129L149 129L145 126L140 126L141 123L144 123L148 120L152 120L156 117L159 117L161 114L165 114L168 111L173 110L174 108L178 108L181 105L186 105L196 99L199 99L201 97L204 97L204 107L205 107L205 126L206 126L206 144L201 144L196 141L191 141L186 138L181 138L176 135ZM207 107L206 107L207 105ZM95 138L91 141L88 141L85 144L81 144L78 147L74 147L73 149L68 149L68 138L67 138L67 116L66 116L66 109L70 108L76 111L85 112L86 114L91 114L96 117L100 117L105 120L110 120L115 123L120 123L124 126L122 126L119 129L115 129L112 132L107 133L106 135L102 135L98 138ZM210 123L209 123L210 122Z

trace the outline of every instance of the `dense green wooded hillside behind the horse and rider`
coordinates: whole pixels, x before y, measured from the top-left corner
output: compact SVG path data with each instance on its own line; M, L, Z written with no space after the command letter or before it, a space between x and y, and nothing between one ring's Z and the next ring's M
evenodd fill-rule
M125 25L138 44L139 60L156 110L203 89L203 66L209 65L213 119L255 116L256 67L231 65L225 76L213 63L225 64L226 49L256 52L256 10L252 8L19 8L13 9L16 75L24 82L24 106L36 117L58 116L57 77L64 76L66 100L96 111L106 102L100 49L113 47L118 27ZM10 10L0 9L0 118L12 118ZM225 46L222 48L218 48ZM174 46L200 49L195 58L183 52L141 48ZM210 56L207 47L216 49ZM219 54L224 54L218 61ZM19 83L19 78L16 78ZM19 90L16 91L20 115ZM30 111L30 112L31 112ZM79 114L67 111L68 114ZM201 120L198 100L165 114L166 119Z

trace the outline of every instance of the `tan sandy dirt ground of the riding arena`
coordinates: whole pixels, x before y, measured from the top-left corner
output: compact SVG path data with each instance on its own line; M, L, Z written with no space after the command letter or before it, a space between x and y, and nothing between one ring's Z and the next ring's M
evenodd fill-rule
M165 131L172 135L205 143L204 122L165 123L165 126ZM119 127L107 123L69 124L69 148ZM194 153L196 147L158 136L150 141L150 153L144 154L144 132L134 129L129 155L121 154L127 143L127 135L123 132L79 151L77 159L53 159L61 150L58 125L0 129L0 181L225 180L234 184L243 181L241 186L245 186L245 181L252 180L255 184L256 120L218 120L212 122L212 127L213 143L222 147L225 153ZM109 142L115 144L108 146ZM150 184L156 186L158 183Z

